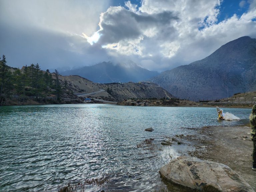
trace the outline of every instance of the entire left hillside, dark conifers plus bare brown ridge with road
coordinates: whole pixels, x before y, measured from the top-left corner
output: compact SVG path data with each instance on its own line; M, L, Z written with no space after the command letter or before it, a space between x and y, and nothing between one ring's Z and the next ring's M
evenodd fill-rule
M112 101L173 97L154 83L100 84L78 75L62 76L56 69L53 73L43 71L39 64L19 69L6 63L3 55L0 60L1 105L81 103L82 97L104 97Z

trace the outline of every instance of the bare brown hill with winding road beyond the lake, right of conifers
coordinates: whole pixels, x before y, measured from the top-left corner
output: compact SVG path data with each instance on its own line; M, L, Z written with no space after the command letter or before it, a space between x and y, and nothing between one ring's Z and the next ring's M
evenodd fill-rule
M54 76L53 78L55 79ZM100 84L93 83L78 75L60 75L59 80L64 91L71 91L74 94L82 96L85 94L83 97L107 97L113 101L121 101L129 98L173 98L168 91L155 83L128 82Z

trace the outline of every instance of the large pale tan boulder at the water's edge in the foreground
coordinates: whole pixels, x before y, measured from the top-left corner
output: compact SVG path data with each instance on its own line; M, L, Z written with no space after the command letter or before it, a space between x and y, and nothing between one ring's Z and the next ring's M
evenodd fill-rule
M227 165L196 157L182 156L171 160L160 169L167 180L192 189L202 190L204 185L224 192L254 192L252 187Z

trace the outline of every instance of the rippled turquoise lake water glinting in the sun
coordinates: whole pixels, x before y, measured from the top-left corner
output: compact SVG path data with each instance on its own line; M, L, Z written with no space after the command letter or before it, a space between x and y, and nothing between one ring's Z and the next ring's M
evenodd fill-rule
M109 191L152 191L161 166L177 155L137 148L144 139L196 134L202 126L249 123L251 109L69 104L0 107L0 191L56 191L67 182L111 174ZM152 127L153 132L144 129ZM112 188L111 188L112 187ZM88 191L97 191L88 188Z

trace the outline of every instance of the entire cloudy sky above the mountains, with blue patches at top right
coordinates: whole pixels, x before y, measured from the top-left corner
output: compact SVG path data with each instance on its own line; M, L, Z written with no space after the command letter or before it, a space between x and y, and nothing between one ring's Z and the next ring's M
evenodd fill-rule
M256 38L256 0L0 0L0 29L12 67L132 60L160 72Z

